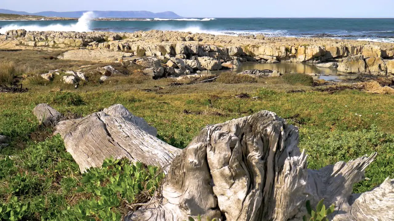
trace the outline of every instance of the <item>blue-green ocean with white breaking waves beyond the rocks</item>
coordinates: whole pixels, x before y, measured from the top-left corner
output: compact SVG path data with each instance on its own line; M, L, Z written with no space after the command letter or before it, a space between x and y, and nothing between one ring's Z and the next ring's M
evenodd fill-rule
M214 35L263 34L269 37L321 37L394 43L394 18L142 18L138 20L0 20L0 33L28 31L113 31L152 29Z

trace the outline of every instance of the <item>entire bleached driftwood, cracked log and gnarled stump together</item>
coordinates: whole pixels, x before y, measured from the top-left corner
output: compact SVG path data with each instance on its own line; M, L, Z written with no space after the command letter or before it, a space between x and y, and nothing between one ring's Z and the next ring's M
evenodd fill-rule
M81 170L101 166L108 157L165 166L164 184L151 201L125 216L125 221L203 220L298 221L325 199L335 204L335 221L394 220L394 180L374 190L352 194L376 153L319 170L307 169L299 151L298 129L275 113L208 125L184 150L165 144L141 128L122 105L78 120L60 122L65 146Z

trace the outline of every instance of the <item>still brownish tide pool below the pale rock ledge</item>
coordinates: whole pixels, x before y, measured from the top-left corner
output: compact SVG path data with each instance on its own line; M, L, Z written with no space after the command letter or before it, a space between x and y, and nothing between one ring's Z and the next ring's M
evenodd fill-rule
M242 63L238 68L232 70L221 70L212 72L212 74L218 74L221 72L234 72L240 73L245 70L252 69L269 69L277 70L282 74L290 73L302 73L302 74L317 74L317 76L312 76L314 79L323 79L326 81L342 81L345 79L355 79L357 75L348 74L345 72L339 72L333 68L320 68L310 64L303 63L276 63L276 64L260 64L260 63Z

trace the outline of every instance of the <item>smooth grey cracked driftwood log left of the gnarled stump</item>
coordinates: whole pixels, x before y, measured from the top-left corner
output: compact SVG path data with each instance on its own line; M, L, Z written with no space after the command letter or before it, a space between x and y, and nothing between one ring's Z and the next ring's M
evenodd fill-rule
M134 116L119 104L84 118L61 121L55 127L54 134L58 133L82 172L101 167L107 158L128 158L131 162L164 168L180 152L156 138L157 130L143 118Z

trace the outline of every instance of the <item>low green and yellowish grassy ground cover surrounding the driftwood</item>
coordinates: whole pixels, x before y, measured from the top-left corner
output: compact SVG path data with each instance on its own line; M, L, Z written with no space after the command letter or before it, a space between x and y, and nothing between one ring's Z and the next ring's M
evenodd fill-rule
M6 56L6 52L0 55ZM28 52L26 56L33 55ZM52 65L46 59L35 59L35 65ZM84 65L52 62L65 68ZM94 77L91 74L89 80ZM146 201L160 182L151 180L156 168L130 166L127 160L107 160L103 169L80 174L61 138L38 125L32 109L39 103L49 103L74 116L87 116L120 103L156 127L160 139L179 148L186 147L208 124L260 110L284 118L299 114L289 122L299 127L299 147L309 155L309 168L376 151L377 160L366 169L368 180L356 184L354 192L370 190L386 177L394 177L392 95L356 90L316 92L310 86L288 83L285 77L250 82L227 76L228 81L222 77L223 81L218 78L212 83L169 86L171 79L145 78L138 67L131 68L128 76L111 78L103 84L92 80L73 88L58 84L55 76L53 82L32 85L26 93L0 93L0 134L12 139L0 149L0 220L7 220L4 217L10 217L11 211L15 220L118 220L129 206ZM286 92L300 89L307 92ZM240 93L249 98L235 98Z

